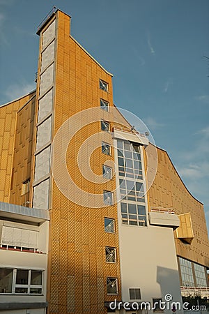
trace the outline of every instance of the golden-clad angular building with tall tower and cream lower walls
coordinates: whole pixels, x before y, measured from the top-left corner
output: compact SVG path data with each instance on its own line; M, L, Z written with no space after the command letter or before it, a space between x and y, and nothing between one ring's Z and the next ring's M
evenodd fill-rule
M0 107L0 312L183 313L209 294L203 204L118 112L70 16L37 33L36 91Z

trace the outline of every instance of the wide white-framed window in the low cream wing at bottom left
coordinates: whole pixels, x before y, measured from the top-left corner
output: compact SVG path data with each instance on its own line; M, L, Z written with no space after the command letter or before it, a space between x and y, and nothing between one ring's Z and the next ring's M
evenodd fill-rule
M0 268L0 293L42 294L43 271Z

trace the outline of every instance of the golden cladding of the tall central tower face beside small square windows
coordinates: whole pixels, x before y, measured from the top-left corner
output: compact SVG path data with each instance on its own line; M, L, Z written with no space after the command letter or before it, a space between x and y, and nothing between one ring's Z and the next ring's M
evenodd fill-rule
M73 114L88 107L100 106L100 98L109 101L110 106L114 105L111 75L107 74L72 37L68 36L70 18L66 19L66 15L61 12L58 15L54 135L63 122ZM109 93L100 90L100 78L109 84ZM101 110L101 118L102 114ZM77 154L84 140L98 132L100 132L100 122L90 124L77 132L72 138L66 154L68 171L72 180L79 188L92 194L102 194L107 187L114 190L116 186L114 180L111 184L100 185L95 184L93 180L88 181L77 166ZM100 147L91 156L91 170L100 175L102 174L102 163L107 159L114 161L114 154L102 155ZM86 162L87 177L89 171L89 165ZM88 197L84 197L84 193L77 193L75 190L72 188L72 193L76 193L79 200L88 202ZM52 274L59 273L58 276L62 278L63 287L66 287L68 293L63 292L63 287L61 287L61 283L57 283L56 276L49 277L48 285L51 286L52 293L49 297L49 313L53 313L53 311L63 314L70 313L70 311L79 314L84 311L91 314L105 313L104 299L111 300L112 298L106 295L107 272L104 271L104 265L107 262L104 248L105 246L114 246L118 251L118 234L109 236L104 232L105 216L117 218L116 204L112 205L111 209L109 207L94 209L75 204L65 198L53 183L52 239L49 244L52 247L52 257L49 255L49 264ZM56 255L56 258L53 255ZM118 278L120 287L119 259L117 265L107 265L107 267L108 274ZM68 274L68 280L65 274ZM65 285L66 280L68 282ZM56 299L54 301L55 286ZM116 299L121 299L121 291ZM54 303L66 304L66 306L57 308Z

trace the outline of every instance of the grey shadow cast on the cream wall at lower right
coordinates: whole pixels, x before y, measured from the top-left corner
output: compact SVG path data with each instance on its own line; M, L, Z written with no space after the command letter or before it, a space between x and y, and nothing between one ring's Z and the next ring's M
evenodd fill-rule
M183 313L183 303L180 293L180 280L178 271L157 266L157 283L160 285L162 301L165 302L165 305L167 306L167 309L164 310L164 313ZM176 311L172 311L172 302L179 302L180 304L176 306Z

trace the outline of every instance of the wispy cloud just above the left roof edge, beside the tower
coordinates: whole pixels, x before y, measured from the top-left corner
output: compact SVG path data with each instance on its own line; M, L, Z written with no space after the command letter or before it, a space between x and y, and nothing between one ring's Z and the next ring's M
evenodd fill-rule
M35 89L35 83L20 83L20 84L11 84L4 92L4 100L3 103L8 103L11 100L17 99L30 91ZM1 103L2 104L2 103Z

